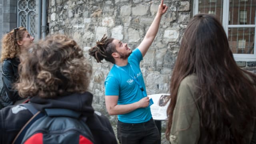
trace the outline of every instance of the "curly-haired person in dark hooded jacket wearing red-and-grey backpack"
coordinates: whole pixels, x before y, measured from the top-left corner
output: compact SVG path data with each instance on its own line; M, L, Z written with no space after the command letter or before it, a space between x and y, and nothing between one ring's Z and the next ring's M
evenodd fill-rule
M94 112L88 86L92 66L78 44L65 35L53 35L32 44L20 56L20 77L15 86L22 98L41 112L68 109L81 113L95 144L117 144L108 118ZM33 114L23 105L0 110L0 143L10 144Z

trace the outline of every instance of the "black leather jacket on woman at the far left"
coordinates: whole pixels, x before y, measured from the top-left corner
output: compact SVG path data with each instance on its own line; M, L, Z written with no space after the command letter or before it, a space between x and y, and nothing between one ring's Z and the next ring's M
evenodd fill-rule
M0 105L2 107L12 105L20 100L18 91L13 89L13 84L18 79L18 58L5 59L2 64L3 88L0 93ZM1 107L1 106L0 106Z

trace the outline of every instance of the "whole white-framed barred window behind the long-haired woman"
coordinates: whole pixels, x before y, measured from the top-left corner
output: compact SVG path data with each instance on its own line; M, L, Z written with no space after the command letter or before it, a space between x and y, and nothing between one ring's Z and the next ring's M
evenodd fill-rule
M194 0L194 12L215 14L236 60L256 60L256 0Z

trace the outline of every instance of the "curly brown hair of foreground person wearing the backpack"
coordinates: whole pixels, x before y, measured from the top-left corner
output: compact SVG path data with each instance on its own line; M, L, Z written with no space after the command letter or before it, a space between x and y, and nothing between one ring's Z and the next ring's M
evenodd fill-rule
M32 44L20 60L16 88L21 97L83 93L90 83L91 64L78 44L65 35L56 34Z

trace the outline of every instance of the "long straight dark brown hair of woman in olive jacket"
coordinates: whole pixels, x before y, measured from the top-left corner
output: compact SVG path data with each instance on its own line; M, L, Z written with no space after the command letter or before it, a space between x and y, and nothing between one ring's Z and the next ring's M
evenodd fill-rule
M226 33L212 15L195 15L182 38L170 82L168 139L180 82L190 74L198 79L200 141L243 144L256 118L256 76L236 65Z

